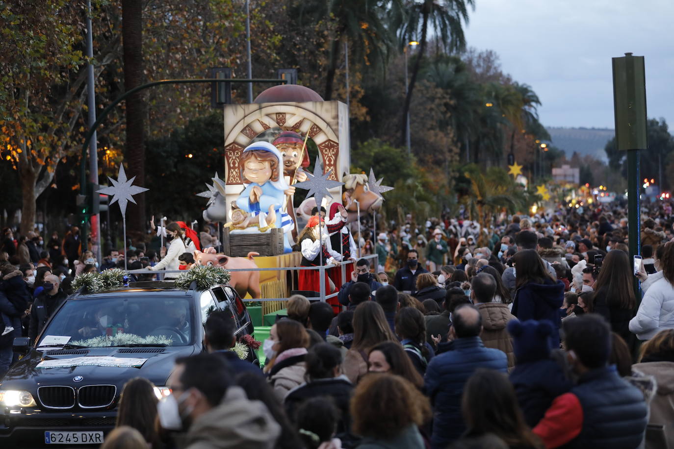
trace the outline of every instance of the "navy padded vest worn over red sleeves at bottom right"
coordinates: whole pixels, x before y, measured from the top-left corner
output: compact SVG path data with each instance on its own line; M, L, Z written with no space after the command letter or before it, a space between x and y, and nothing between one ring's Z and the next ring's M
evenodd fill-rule
M615 366L590 370L571 389L583 409L583 427L569 448L638 448L648 406L644 394L623 380Z

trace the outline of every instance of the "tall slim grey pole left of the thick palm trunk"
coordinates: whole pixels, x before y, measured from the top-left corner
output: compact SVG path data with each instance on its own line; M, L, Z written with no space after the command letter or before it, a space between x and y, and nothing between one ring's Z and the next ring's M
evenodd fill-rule
M86 1L86 55L89 59L87 63L87 108L88 108L88 122L89 128L91 129L96 123L96 89L94 86L94 65L92 60L94 59L94 38L92 34L91 27L91 0ZM89 145L89 181L91 184L98 185L98 147L96 145L96 131L92 135L91 144ZM92 207L94 202L98 203L98 193L93 191L90 192L91 195L91 204ZM98 209L98 208L96 208ZM82 233L85 235L84 233ZM92 213L91 215L91 242L92 245L95 245L97 250L95 252L96 260L98 261L98 266L102 262L101 252L102 247L100 246L100 213ZM86 245L86 242L85 242Z

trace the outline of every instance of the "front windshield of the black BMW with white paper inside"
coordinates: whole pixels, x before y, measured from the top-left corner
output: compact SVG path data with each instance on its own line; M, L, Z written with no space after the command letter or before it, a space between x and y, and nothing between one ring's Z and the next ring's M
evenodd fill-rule
M67 301L40 338L40 346L187 346L193 310L186 298L111 296Z

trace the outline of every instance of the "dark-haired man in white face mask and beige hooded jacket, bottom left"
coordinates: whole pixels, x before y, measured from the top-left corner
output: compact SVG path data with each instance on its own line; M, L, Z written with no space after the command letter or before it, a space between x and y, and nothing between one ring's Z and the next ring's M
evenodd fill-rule
M268 408L250 401L216 354L176 359L171 394L157 415L166 431L183 432L183 449L272 449L281 433Z

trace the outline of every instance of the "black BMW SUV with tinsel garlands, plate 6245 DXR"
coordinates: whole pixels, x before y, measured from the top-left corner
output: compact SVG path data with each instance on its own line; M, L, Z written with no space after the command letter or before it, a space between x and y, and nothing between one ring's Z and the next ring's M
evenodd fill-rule
M194 285L194 284L193 284ZM158 397L176 357L203 351L210 310L231 312L237 337L253 334L239 295L229 285L177 289L172 282L69 297L0 383L0 447L95 445L115 426L127 380L147 378ZM249 359L257 363L255 351ZM64 446L61 446L64 447Z

